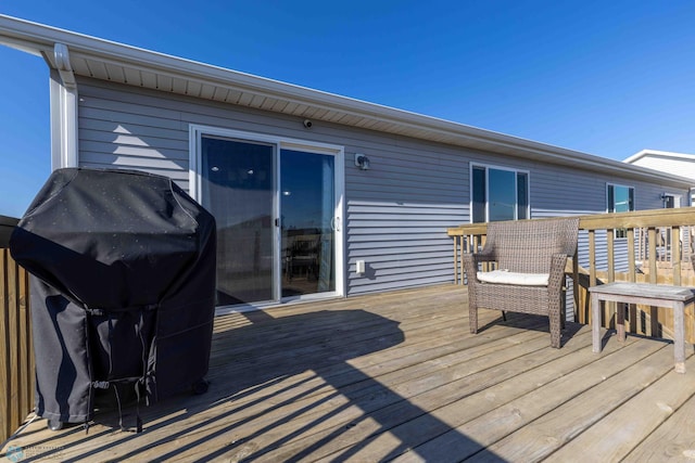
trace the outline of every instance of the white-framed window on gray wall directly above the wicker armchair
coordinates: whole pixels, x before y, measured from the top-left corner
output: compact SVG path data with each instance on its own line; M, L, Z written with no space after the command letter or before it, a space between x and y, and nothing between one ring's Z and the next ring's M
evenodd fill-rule
M529 218L529 173L472 166L472 221L494 222Z

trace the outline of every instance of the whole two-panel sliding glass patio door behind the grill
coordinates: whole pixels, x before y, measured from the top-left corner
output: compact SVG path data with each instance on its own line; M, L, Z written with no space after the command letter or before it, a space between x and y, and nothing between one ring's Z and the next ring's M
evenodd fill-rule
M217 305L342 294L342 150L198 128L194 190L217 220Z

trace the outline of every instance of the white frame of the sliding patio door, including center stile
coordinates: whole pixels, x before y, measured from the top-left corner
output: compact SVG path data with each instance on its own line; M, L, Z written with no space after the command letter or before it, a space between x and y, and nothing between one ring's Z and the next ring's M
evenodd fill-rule
M301 296L281 297L282 285L282 271L281 271L281 250L280 250L280 228L274 227L274 245L275 245L275 261L273 271L273 292L274 300L263 304L250 304L245 306L262 307L274 305L278 303L289 303L293 300L316 300L328 297L342 297L345 295L345 220L344 220L344 207L345 207L345 150L342 145L314 142L309 140L292 139L289 137L278 137L267 133L249 132L242 130L227 129L223 127L203 126L197 124L189 125L189 194L197 202L201 202L201 166L202 166L202 153L201 153L201 138L203 136L223 137L239 141L250 142L263 142L275 145L275 158L274 166L276 169L276 179L274 181L274 201L273 201L273 219L274 221L280 218L280 153L282 150L304 151L309 153L327 154L334 156L334 210L333 218L336 221L336 291L327 293L314 293ZM233 308L243 308L241 306L230 306Z

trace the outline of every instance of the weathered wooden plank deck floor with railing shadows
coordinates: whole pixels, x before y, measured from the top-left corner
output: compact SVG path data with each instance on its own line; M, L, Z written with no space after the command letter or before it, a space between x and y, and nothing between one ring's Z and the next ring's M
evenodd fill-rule
M673 345L483 311L447 285L219 317L210 390L54 433L37 420L13 461L694 461L695 357ZM132 423L134 409L124 414Z

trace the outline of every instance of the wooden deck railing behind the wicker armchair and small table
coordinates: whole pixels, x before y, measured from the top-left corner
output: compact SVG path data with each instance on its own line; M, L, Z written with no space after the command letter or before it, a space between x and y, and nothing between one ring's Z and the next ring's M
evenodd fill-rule
M596 284L630 281L695 286L690 260L693 226L693 207L581 216L579 252L567 269L573 284L574 320L591 322L586 290ZM486 224L464 224L447 232L454 239L454 279L464 284L462 254L481 248ZM630 332L671 337L672 314L668 309L630 306L626 310L626 327ZM692 306L686 308L688 343L695 343L693 312ZM612 313L614 308L608 306L602 320L604 326L614 326Z

